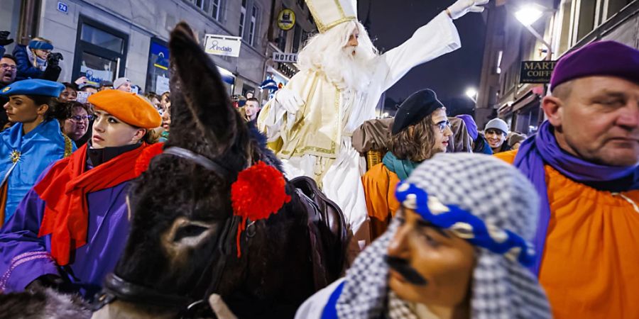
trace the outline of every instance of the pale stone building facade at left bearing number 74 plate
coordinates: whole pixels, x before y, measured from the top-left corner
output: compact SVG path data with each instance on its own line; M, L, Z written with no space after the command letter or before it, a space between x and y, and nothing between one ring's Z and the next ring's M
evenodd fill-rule
M207 34L241 37L239 57L210 55L229 94L258 90L265 77L271 0L3 0L0 29L21 43L33 36L61 52L60 82L128 77L144 91L168 90L170 30L186 21ZM8 48L9 52L13 47Z

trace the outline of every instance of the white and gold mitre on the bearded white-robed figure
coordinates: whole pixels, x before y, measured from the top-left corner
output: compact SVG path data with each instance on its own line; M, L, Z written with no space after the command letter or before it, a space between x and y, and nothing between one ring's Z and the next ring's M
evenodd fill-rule
M320 33L339 23L357 20L357 0L306 0L306 4Z

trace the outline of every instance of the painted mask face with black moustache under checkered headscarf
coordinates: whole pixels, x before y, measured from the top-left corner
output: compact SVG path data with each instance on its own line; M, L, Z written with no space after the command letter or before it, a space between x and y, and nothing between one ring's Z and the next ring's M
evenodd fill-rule
M456 307L469 300L474 247L453 233L427 223L410 209L388 246L388 286L403 300Z

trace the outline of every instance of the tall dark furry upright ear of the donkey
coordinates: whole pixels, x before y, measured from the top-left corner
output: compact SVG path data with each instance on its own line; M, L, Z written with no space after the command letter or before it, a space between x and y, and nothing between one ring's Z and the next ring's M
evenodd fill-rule
M176 102L182 99L182 103L187 104L195 125L210 141L209 145L219 153L224 152L233 143L238 123L217 67L185 22L178 23L171 32L169 49L175 72L172 86L178 86L179 92ZM171 98L173 100L173 88Z

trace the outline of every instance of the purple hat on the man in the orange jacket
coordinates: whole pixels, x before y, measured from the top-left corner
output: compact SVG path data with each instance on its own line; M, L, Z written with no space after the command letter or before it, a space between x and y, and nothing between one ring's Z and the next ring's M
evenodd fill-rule
M559 59L550 89L580 77L608 75L639 83L639 50L615 41L585 45Z

